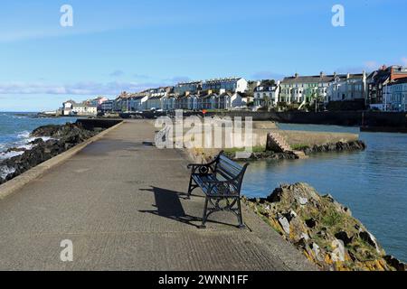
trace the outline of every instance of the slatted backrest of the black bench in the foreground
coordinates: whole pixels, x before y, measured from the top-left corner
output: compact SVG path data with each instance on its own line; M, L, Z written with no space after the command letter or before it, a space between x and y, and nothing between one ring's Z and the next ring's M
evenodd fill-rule
M243 181L243 176L248 165L249 164L246 163L244 166L241 166L239 163L233 162L223 154L219 154L214 172L226 181L234 180L233 186L237 191L240 191L241 182Z

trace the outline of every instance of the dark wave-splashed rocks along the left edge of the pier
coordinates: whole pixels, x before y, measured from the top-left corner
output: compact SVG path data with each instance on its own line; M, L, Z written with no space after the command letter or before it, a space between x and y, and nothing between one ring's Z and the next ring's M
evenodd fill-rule
M62 126L41 126L33 130L30 137L33 141L25 147L10 148L3 154L16 154L0 161L0 168L6 174L0 178L0 184L14 179L52 157L62 154L73 146L80 144L103 129L85 129L80 123L67 123Z

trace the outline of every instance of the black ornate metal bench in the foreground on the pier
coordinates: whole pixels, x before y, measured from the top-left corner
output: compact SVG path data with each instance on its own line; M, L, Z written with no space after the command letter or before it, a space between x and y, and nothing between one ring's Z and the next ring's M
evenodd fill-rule
M239 228L244 228L241 216L241 182L249 163L241 166L223 152L211 163L189 164L192 170L188 188L188 199L191 193L201 188L205 194L204 217L199 228L206 228L205 223L210 215L217 211L229 211L239 220Z

